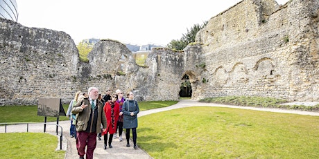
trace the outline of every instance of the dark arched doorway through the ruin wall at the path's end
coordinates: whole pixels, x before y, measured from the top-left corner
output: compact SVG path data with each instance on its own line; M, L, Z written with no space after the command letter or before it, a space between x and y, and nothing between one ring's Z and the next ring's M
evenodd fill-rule
M191 97L193 93L191 85L193 82L196 82L196 74L193 71L186 71L180 82L180 97Z

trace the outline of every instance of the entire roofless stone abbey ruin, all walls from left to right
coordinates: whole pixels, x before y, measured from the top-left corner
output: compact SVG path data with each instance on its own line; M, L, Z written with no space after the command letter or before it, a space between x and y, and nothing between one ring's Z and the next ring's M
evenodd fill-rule
M0 19L0 105L68 103L96 86L133 91L137 100L178 100L189 76L192 99L227 95L319 101L319 1L243 0L209 19L183 51L155 48L146 66L116 40L101 40L80 62L66 32ZM119 73L120 72L120 73Z

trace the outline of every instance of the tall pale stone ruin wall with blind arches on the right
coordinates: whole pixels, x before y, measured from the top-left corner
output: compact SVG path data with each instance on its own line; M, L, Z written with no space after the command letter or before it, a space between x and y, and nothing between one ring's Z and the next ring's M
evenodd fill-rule
M281 8L273 2L241 1L200 30L196 40L207 64L202 77L209 82L200 84L197 99L255 95L318 101L319 2L289 1ZM273 9L264 11L265 4Z

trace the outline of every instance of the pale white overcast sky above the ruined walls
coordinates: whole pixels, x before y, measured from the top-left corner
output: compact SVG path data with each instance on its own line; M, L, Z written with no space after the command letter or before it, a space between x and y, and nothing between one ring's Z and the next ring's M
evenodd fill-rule
M16 0L18 23L83 39L166 46L241 0ZM284 4L288 0L277 0Z

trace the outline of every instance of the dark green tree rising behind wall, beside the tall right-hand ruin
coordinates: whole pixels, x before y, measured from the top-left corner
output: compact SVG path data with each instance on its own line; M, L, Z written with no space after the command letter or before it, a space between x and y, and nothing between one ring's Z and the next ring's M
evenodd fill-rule
M189 30L187 28L187 34L183 34L180 40L173 39L167 47L175 50L183 50L189 43L195 42L197 32L206 26L208 21L205 21L204 24L194 24L193 27Z

